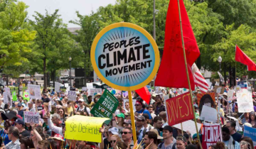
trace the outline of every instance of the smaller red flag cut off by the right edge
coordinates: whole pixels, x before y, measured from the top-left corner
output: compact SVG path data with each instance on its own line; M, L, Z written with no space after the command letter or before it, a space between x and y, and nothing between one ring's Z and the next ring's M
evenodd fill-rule
M248 57L242 50L235 45L235 61L241 62L243 65L247 65L248 71L256 71L255 62Z

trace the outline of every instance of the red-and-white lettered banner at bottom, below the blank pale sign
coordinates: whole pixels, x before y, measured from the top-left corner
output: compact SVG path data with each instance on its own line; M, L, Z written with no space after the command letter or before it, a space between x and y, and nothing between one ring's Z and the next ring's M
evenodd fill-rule
M209 148L217 142L222 142L221 127L219 123L203 123L203 141L202 147Z

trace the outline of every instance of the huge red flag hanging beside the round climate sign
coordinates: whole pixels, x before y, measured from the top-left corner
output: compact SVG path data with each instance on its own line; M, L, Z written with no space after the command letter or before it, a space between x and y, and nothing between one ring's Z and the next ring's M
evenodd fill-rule
M195 89L191 67L200 55L196 38L193 35L183 1L180 1L183 39L188 63L188 73L191 89ZM178 1L171 0L166 16L166 30L164 40L164 54L156 75L156 86L188 89L186 66L181 43L181 28L178 16Z

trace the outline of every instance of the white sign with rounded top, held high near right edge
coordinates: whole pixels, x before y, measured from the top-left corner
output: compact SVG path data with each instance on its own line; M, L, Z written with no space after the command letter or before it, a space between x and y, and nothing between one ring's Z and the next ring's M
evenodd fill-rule
M238 112L243 113L254 111L252 92L247 89L241 89L240 92L237 92L236 96L238 97Z

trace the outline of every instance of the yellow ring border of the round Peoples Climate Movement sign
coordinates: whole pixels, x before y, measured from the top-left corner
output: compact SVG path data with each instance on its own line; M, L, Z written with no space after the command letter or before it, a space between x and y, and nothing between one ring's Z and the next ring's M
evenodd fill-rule
M146 36L146 38L151 43L151 45L153 47L153 50L154 50L154 54L155 54L154 68L153 68L153 71L151 72L151 74L149 75L149 77L147 79L145 79L144 82L142 82L141 84L137 84L137 85L134 85L132 87L123 87L123 86L119 86L117 84L114 84L114 83L108 81L100 73L100 70L98 70L98 67L96 65L95 49L96 49L97 43L99 42L100 38L102 37L102 35L105 35L105 33L107 33L108 31L110 31L110 30L112 30L114 28L119 28L119 27L133 28L133 29L141 32L143 35ZM100 79L103 82L105 82L107 85L109 85L110 87L113 87L114 89L123 90L123 91L132 91L132 90L136 90L136 89L141 89L142 87L144 87L147 84L149 84L149 82L151 82L151 80L156 75L156 72L157 72L157 70L159 68L159 63L160 63L159 49L158 49L158 47L156 45L155 40L152 38L152 36L146 30L144 30L144 28L142 28L140 26L137 26L137 25L135 25L133 23L127 23L127 22L113 23L110 26L107 26L107 27L103 28L102 31L100 31L100 33L98 33L96 35L95 39L93 40L90 57L91 57L91 62L92 62L93 70L95 70L97 76L100 77Z

